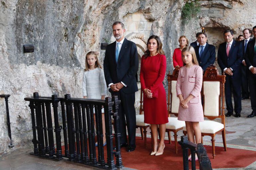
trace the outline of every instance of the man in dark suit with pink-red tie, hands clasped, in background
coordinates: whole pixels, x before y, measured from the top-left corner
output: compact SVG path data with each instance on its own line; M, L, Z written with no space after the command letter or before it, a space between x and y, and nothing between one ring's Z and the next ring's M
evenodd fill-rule
M227 106L226 117L230 117L235 110L235 117L241 117L241 62L242 62L242 45L233 40L234 33L232 30L224 31L225 42L219 45L218 64L222 72L226 75L225 98ZM232 91L234 96L235 107L232 105Z

